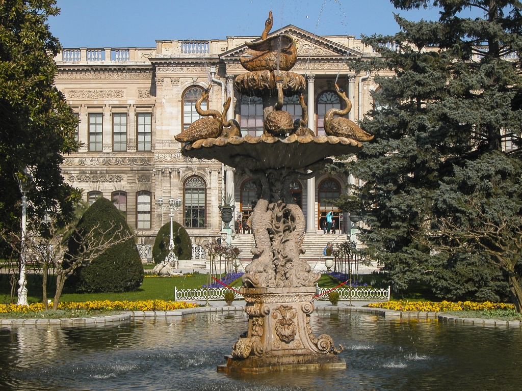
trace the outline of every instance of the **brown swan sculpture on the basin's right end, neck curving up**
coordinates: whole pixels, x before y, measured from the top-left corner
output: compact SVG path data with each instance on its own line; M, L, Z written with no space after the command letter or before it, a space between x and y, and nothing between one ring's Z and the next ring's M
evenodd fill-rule
M334 115L347 115L352 108L352 103L346 96L345 91L343 91L337 84L335 85L335 88L337 95L346 102L346 108L343 110L331 108L326 112L324 120L325 133L328 136L346 137L347 139L356 141L372 140L375 136L362 130L352 120L345 117L334 118Z

